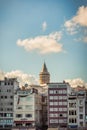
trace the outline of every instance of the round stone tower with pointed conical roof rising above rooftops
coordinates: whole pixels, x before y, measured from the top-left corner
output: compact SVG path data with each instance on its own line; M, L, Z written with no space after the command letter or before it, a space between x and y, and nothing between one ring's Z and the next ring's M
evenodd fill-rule
M46 64L44 62L42 70L39 74L39 82L40 84L46 84L50 82L50 74L47 70Z

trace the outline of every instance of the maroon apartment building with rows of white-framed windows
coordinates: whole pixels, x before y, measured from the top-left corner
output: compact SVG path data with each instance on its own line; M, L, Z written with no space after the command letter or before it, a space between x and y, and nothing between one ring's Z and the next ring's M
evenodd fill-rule
M71 91L66 82L48 83L48 127L67 128L68 100L67 95Z

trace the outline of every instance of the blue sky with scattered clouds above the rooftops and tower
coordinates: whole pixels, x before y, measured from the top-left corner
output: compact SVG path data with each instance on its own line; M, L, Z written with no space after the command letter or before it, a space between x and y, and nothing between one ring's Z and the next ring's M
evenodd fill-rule
M87 82L87 0L0 0L0 75Z

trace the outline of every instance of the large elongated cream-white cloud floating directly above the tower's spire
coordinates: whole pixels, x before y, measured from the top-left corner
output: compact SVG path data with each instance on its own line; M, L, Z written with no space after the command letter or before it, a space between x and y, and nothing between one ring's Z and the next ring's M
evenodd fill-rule
M59 40L62 37L61 32L50 33L49 35L37 36L25 40L18 40L17 45L22 46L27 51L36 51L41 54L62 52L62 44Z

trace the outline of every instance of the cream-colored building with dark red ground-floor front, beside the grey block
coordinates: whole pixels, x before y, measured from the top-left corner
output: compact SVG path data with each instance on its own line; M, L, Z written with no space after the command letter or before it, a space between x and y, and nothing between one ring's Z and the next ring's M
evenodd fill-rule
M17 90L14 103L14 126L36 127L41 125L41 95L36 89Z

